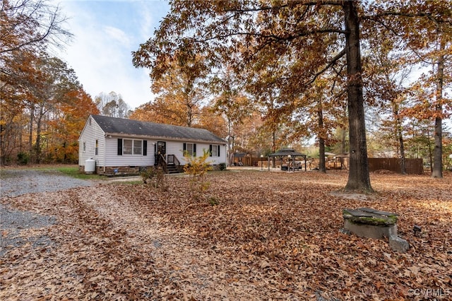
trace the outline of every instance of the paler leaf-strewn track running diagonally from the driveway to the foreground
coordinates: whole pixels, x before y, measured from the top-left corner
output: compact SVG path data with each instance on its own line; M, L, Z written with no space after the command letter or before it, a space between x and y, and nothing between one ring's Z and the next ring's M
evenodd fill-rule
M104 187L102 187L104 188ZM88 190L88 191L86 191ZM109 195L105 189L92 187L85 192L91 198L85 204L112 223L117 230L126 231L131 248L145 249L153 258L153 271L160 284L155 295L170 297L182 292L187 300L263 300L268 281L251 281L243 266L221 259L217 246L200 247L191 233L160 225L160 216L147 208ZM111 191L110 191L111 192ZM234 285L230 285L234 283Z

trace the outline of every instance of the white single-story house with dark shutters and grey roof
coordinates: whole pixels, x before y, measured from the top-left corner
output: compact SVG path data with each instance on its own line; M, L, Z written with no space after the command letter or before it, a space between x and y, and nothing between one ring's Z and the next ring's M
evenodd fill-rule
M136 175L148 167L180 171L184 152L208 151L214 167L227 160L227 142L206 129L100 115L88 117L78 144L79 170L99 175Z

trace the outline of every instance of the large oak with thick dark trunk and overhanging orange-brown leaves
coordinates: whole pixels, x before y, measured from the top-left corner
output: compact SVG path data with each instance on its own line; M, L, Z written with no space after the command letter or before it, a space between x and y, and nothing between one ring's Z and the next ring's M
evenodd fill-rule
M261 58L273 53L283 58L280 64L285 65L285 71L278 83L285 86L285 95L292 93L293 97L287 98L290 102L323 73L343 78L340 66L346 66L350 172L345 189L372 191L364 124L361 27L372 28L389 13L398 18L404 7L400 1L386 1L378 6L383 11L359 1L335 0L174 0L170 4L171 11L155 36L133 53L133 64L150 67L153 81L165 76L172 57L181 61L198 54L206 58L210 70L228 61L237 70L249 71L258 70L258 64L265 69L266 59ZM420 12L412 17L419 16ZM408 33L412 28L399 29Z

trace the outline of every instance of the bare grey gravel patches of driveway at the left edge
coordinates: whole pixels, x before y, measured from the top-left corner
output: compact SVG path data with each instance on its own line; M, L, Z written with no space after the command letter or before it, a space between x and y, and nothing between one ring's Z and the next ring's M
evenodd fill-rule
M1 199L23 194L66 190L73 187L90 186L93 182L74 179L57 170L1 170ZM43 228L55 223L53 216L42 216L30 211L18 211L4 206L0 202L0 256L30 242L34 246L49 244L46 236L31 237L27 240L20 236L20 231L30 228ZM9 247L8 247L9 246Z

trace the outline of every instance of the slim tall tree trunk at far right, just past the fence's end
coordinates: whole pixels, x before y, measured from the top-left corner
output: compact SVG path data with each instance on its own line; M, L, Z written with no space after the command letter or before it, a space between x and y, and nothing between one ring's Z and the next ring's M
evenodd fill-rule
M440 50L443 51L446 48L446 42L444 38L441 38ZM438 73L436 79L436 117L435 117L435 130L434 130L434 153L433 153L433 167L432 177L443 177L443 119L441 118L443 98L443 80L444 80L444 54L441 54L438 59Z

